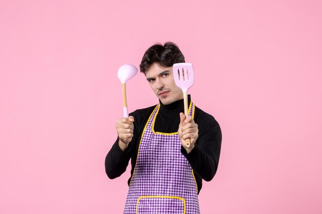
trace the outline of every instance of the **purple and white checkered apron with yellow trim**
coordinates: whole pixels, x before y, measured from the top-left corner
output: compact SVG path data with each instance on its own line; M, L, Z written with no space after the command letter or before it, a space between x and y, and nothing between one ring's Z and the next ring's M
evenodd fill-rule
M142 133L125 214L197 214L198 190L176 133L153 130L155 107ZM193 116L191 103L189 115Z

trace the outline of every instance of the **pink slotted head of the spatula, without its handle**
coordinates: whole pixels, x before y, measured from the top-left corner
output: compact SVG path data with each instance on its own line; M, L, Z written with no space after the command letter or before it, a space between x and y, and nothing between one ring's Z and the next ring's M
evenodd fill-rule
M187 92L193 85L193 68L191 63L175 63L173 65L173 77L177 87Z

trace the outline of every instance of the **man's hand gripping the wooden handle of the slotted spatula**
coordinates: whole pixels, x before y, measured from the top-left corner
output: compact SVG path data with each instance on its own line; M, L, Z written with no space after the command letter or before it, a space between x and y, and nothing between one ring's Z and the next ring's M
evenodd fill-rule
M187 116L186 118L184 113L180 113L178 136L187 153L190 153L190 151L192 151L192 149L194 148L194 143L198 138L198 125L194 123L192 116ZM189 147L187 147L186 145L186 139L188 138L190 138Z

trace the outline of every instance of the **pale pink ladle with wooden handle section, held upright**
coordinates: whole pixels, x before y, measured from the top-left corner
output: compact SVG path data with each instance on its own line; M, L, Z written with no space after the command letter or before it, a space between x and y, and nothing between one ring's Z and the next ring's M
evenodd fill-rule
M130 80L136 74L137 74L137 68L131 64L124 64L117 71L117 77L121 81L121 84L122 84L123 116L124 116L124 118L129 117L126 83L128 80Z

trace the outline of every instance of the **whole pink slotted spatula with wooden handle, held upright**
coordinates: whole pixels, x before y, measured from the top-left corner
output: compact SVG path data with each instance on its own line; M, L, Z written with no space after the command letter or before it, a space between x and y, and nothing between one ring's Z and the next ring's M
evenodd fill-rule
M182 89L185 115L188 116L188 89L193 85L192 64L175 63L173 65L173 77L175 84ZM190 139L186 140L186 146L190 146Z

